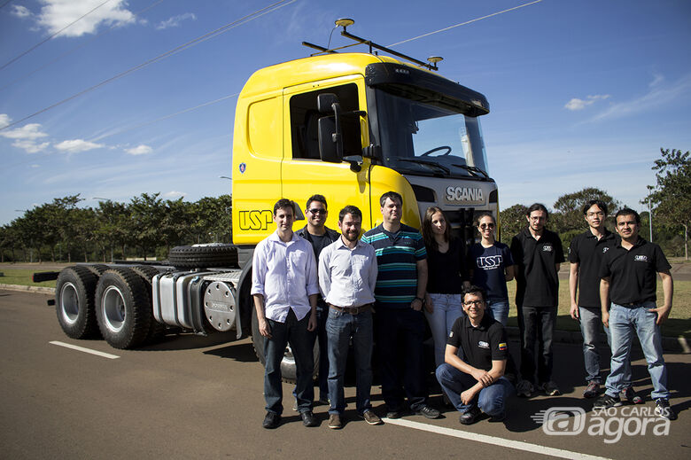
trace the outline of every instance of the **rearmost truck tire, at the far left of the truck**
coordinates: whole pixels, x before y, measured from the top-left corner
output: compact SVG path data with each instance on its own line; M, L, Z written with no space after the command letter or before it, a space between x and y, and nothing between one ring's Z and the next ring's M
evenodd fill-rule
M97 337L94 308L97 277L89 269L75 265L62 269L55 285L55 310L58 323L67 337Z

